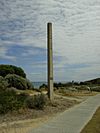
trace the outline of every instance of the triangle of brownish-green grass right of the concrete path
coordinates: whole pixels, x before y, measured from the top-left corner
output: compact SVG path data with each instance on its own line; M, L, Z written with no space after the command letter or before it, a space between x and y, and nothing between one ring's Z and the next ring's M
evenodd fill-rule
M100 107L81 133L100 133Z

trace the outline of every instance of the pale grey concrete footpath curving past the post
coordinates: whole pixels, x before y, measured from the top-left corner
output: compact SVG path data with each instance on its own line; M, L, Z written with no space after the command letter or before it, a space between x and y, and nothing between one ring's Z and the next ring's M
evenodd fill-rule
M91 96L28 133L80 133L99 106L100 94Z

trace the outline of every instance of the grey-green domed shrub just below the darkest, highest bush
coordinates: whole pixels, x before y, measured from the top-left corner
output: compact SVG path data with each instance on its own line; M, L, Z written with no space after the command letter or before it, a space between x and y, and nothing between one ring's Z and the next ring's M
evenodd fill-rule
M9 83L9 87L15 87L19 90L34 88L29 80L15 74L8 74L5 80Z

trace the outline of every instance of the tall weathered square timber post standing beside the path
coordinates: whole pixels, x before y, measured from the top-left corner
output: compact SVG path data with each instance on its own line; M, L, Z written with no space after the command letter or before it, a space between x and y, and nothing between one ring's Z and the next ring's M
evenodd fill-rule
M52 51L52 23L47 23L48 48L48 97L53 100L53 51Z

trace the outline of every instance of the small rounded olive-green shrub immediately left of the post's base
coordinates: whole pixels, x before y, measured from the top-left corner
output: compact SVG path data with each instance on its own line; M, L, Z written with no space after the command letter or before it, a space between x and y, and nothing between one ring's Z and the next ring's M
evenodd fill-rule
M29 97L26 100L26 105L31 109L44 109L46 105L46 97L43 94L35 95L34 97Z

